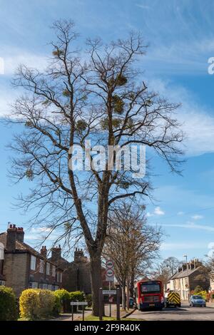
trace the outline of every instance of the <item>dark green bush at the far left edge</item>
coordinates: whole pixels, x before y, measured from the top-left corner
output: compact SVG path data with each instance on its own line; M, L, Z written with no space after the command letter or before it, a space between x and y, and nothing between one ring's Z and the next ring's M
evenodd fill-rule
M16 296L10 287L0 287L0 321L16 321Z

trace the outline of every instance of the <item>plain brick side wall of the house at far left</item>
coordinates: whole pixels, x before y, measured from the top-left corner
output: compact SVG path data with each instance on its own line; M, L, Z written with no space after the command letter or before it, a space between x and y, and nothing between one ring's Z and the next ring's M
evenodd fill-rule
M29 254L5 253L4 277L5 285L12 287L17 296L28 287Z

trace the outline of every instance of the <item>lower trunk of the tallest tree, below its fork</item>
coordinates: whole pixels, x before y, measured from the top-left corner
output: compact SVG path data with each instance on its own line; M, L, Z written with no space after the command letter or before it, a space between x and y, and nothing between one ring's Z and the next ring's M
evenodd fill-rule
M99 289L102 287L101 277L101 255L96 251L90 252L91 264L91 294L92 294L92 314L99 315Z

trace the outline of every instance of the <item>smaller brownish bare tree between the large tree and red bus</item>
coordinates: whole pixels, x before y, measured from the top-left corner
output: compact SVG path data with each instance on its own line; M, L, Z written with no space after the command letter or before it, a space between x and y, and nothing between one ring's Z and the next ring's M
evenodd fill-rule
M163 235L161 228L146 224L144 210L145 207L123 201L109 217L103 257L114 263L116 279L122 288L123 309L126 309L126 287L133 297L134 280L157 257Z

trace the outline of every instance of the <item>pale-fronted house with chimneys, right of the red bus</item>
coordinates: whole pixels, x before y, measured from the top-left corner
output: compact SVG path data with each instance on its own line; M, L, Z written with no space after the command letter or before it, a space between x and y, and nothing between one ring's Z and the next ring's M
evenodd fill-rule
M210 286L204 267L198 259L193 259L179 267L178 272L170 277L168 283L168 289L178 292L181 300L188 300L197 286L205 290Z

